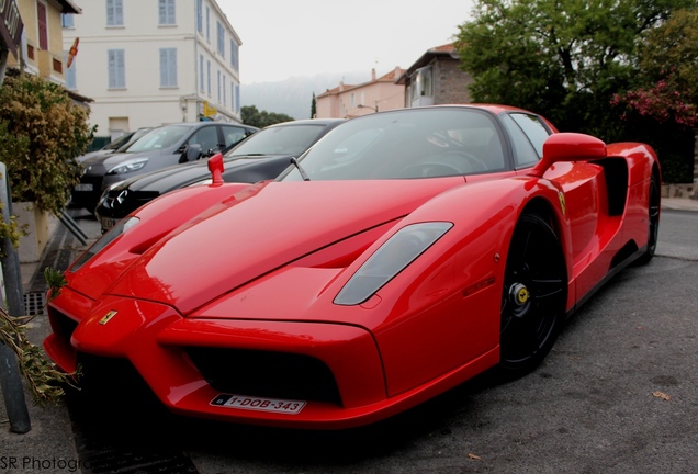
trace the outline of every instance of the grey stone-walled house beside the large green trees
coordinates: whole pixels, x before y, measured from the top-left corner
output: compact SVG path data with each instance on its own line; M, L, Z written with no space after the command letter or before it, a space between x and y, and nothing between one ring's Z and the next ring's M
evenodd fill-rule
M397 79L405 87L405 106L470 103L472 78L459 65L453 44L428 49Z

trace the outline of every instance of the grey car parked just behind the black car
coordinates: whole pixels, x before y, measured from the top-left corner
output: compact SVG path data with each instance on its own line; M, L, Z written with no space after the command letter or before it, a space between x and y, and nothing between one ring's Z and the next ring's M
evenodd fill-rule
M70 204L94 212L102 192L110 185L136 174L198 160L202 154L225 149L257 131L247 125L217 122L154 128L123 153L82 161L85 172L72 190Z

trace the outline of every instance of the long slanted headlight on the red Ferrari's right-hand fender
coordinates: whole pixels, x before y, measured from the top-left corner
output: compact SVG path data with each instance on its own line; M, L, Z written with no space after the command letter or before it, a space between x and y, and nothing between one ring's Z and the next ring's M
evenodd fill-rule
M346 306L363 303L415 261L451 227L453 224L449 222L420 223L403 227L351 276L335 297L335 303Z

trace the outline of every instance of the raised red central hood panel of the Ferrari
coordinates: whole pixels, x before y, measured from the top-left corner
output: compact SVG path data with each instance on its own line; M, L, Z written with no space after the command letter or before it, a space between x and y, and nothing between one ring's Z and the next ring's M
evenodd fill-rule
M189 314L318 249L401 218L463 182L453 177L257 184L157 242L106 293Z

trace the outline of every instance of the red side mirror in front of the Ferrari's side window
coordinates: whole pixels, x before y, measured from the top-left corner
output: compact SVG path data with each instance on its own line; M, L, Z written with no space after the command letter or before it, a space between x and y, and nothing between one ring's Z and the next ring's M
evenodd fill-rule
M529 176L542 177L556 162L588 161L606 157L606 144L592 135L578 133L558 133L548 137L543 144L543 158Z

